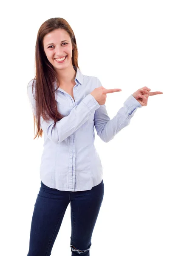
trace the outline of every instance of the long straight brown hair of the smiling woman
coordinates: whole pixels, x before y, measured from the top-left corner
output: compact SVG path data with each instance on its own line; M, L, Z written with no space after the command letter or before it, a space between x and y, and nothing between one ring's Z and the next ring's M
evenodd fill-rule
M54 120L54 126L56 122L62 119L64 116L57 111L57 102L55 99L55 88L54 82L57 81L57 73L53 67L53 65L48 61L44 48L43 48L43 38L46 34L52 32L55 29L65 29L66 32L70 35L71 43L74 46L72 50L72 64L75 67L78 67L78 49L76 38L74 36L74 32L71 29L71 26L68 22L60 17L51 18L46 20L40 26L40 29L37 33L37 41L35 46L35 96L36 96L36 116L34 115L34 139L38 136L42 137L42 129L40 127L40 116L45 121L49 119ZM34 84L33 81L33 84ZM32 93L33 93L32 86ZM59 84L57 83L57 89ZM56 90L57 90L56 89ZM37 127L37 131L35 134L35 125Z

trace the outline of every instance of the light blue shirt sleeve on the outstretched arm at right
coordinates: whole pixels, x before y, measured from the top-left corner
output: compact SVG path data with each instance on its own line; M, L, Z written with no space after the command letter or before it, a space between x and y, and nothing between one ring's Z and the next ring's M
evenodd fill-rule
M100 80L97 78L98 87L102 86ZM116 116L110 119L105 105L100 107L94 113L94 125L97 135L104 141L109 142L114 136L122 130L125 126L129 125L130 119L142 105L131 94L124 102L124 106L119 109Z

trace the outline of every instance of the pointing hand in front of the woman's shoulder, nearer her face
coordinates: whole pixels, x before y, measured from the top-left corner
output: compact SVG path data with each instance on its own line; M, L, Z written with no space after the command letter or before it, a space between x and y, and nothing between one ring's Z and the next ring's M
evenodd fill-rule
M99 105L104 105L106 102L107 93L115 93L120 91L121 89L105 89L104 87L100 86L95 88L90 94L94 96Z

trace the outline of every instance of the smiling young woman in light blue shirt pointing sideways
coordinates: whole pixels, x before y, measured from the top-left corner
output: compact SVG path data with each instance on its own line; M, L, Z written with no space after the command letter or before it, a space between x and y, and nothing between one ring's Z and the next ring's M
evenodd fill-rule
M71 203L71 253L90 255L91 237L104 195L102 165L94 146L97 135L109 142L137 108L147 105L143 87L130 95L113 119L107 93L94 76L79 70L76 38L62 18L46 20L38 31L36 76L27 87L34 113L34 139L44 134L41 186L34 205L28 256L50 256L68 204Z

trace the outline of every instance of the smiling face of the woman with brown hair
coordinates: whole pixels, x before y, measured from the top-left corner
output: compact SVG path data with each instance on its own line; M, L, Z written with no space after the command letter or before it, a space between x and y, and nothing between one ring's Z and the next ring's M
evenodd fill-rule
M71 38L65 29L55 29L45 35L43 39L43 47L48 61L57 70L62 70L72 65L72 49ZM66 57L65 57L66 56ZM65 58L63 60L63 57ZM56 59L56 58L62 58Z

